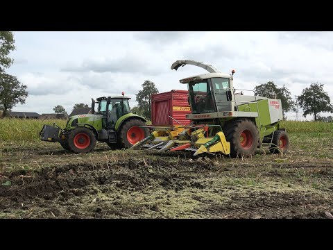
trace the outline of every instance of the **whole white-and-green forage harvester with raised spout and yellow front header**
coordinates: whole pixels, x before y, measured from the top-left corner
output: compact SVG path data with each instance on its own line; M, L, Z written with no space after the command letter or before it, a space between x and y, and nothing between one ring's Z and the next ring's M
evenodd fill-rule
M168 128L155 126L155 131L133 149L187 150L194 151L194 155L219 152L232 157L253 155L263 146L273 153L287 152L288 135L280 128L281 100L255 96L253 90L235 89L234 70L232 74L223 74L212 65L193 60L178 60L171 69L187 64L209 72L180 80L189 90L191 114L187 119L192 123Z

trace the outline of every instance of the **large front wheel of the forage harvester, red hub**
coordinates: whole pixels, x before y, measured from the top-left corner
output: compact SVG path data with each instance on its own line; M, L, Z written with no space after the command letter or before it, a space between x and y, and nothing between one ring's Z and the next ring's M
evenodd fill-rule
M259 131L249 119L231 121L223 131L225 139L230 142L231 157L248 157L255 154L259 144Z

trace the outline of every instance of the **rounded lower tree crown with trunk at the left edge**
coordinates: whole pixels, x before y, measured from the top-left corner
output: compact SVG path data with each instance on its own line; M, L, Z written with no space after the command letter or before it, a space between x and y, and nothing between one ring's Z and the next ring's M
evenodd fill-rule
M0 106L3 106L3 117L17 103L25 103L28 92L26 85L21 84L15 76L0 72Z

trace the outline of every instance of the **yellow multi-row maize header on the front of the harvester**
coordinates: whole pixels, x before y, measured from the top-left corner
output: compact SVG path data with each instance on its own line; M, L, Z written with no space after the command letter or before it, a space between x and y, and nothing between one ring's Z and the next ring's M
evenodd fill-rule
M131 149L164 151L195 151L194 156L200 153L223 153L230 154L230 142L225 140L221 131L214 137L208 137L210 128L219 125L201 126L174 126L174 127L151 127L155 131L144 140L137 142ZM221 126L219 126L221 128Z

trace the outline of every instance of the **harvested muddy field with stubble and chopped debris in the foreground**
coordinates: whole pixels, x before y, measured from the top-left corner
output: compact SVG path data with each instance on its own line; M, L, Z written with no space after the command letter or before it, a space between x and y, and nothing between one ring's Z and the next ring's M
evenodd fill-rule
M43 144L44 145L44 144ZM304 152L303 152L304 153ZM3 147L0 218L327 218L331 158ZM1 166L1 165L0 165Z

